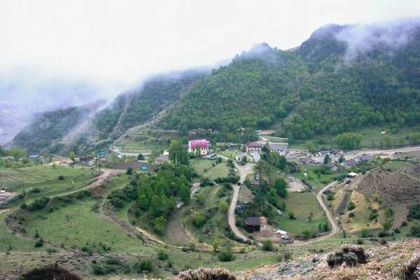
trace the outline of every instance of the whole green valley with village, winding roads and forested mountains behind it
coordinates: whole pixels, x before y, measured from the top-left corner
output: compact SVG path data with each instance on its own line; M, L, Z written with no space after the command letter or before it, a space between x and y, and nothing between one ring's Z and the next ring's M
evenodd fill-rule
M399 48L351 61L354 27L328 25L293 50L260 43L217 69L150 76L104 108L38 114L0 146L0 278L410 279L414 23Z

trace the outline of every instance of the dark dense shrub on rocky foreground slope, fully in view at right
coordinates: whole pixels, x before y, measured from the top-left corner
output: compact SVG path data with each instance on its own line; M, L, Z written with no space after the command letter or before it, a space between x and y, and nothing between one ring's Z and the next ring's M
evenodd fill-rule
M343 262L346 262L346 265L354 266L359 263L366 263L367 257L368 255L362 246L345 244L339 251L328 255L327 263L330 267L341 265Z

